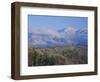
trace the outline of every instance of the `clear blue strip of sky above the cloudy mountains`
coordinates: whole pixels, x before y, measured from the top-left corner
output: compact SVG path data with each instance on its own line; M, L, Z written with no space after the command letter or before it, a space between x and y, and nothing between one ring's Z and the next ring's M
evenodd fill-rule
M28 16L28 29L51 28L59 30L67 27L87 28L87 17L70 17L70 16Z

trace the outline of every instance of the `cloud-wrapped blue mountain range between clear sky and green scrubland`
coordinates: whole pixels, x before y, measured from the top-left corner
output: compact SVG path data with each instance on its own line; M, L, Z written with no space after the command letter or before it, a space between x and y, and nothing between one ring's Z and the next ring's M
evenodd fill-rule
M67 27L60 30L34 29L28 33L29 47L56 47L75 45L87 47L87 29Z

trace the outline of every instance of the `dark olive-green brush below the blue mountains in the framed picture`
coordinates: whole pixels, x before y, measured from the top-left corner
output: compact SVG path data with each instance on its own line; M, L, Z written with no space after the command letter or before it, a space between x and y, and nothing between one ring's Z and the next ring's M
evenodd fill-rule
M29 48L29 66L87 64L87 49L74 46Z

